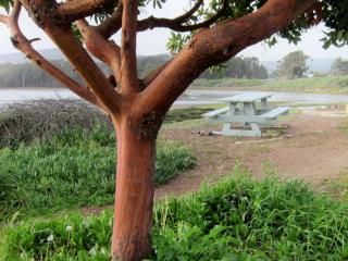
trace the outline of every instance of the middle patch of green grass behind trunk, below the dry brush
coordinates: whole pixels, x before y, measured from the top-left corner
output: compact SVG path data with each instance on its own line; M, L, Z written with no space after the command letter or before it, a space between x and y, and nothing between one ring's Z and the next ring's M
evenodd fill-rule
M114 199L115 140L104 125L67 128L50 140L0 150L0 220L41 215ZM187 147L160 141L156 185L195 165Z

